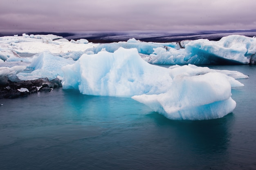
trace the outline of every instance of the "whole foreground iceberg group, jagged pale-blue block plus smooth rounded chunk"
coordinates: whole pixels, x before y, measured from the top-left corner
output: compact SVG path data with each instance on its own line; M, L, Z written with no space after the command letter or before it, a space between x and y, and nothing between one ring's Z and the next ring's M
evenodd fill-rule
M62 69L64 89L79 89L87 95L134 95L133 99L170 119L189 120L215 119L231 113L236 106L231 86L243 86L234 77L248 78L236 71L194 65L150 65L137 49L124 48L114 53L84 54Z

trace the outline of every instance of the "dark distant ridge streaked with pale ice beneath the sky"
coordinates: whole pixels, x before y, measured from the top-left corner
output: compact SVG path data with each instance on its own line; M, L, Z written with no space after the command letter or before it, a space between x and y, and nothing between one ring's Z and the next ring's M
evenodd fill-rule
M14 35L17 33L0 33L0 36ZM179 42L182 40L198 40L208 39L218 41L222 37L238 34L247 37L256 35L256 29L251 30L217 30L217 31L197 31L189 33L168 33L161 31L85 31L85 32L27 32L26 34L54 34L62 36L67 40L79 40L81 38L87 39L93 43L111 43L119 41L127 41L130 38L144 42ZM22 33L18 33L22 35Z

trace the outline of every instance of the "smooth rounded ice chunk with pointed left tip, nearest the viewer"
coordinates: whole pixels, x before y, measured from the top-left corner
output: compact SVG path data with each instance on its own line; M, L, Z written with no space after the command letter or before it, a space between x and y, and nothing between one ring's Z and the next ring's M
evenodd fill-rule
M159 95L136 95L144 103L169 119L216 119L231 113L231 85L221 73L176 76L171 88Z

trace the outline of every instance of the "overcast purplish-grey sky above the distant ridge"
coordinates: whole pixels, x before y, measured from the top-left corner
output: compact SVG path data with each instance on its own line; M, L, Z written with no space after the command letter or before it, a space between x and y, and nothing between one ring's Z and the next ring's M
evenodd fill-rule
M0 0L0 31L256 29L256 0Z

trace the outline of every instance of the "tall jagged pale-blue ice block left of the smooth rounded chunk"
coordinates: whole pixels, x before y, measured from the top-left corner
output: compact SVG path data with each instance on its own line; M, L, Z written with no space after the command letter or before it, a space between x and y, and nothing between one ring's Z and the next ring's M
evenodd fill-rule
M137 49L119 48L114 53L83 54L75 64L62 69L63 88L79 89L87 95L159 94L164 93L172 82L168 68L144 62Z

